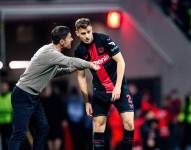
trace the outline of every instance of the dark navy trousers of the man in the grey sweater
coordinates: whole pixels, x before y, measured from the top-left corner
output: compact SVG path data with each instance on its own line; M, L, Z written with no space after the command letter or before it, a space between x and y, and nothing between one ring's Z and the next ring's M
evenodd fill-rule
M28 131L29 122L34 127L34 150L44 150L46 136L48 134L48 122L39 96L29 94L18 87L13 89L13 131L9 141L9 150L19 150L22 141Z

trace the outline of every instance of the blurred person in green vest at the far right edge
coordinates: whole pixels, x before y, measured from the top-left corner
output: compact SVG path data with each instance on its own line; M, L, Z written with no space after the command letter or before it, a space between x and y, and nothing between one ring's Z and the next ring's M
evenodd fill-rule
M191 91L182 103L178 121L182 127L181 149L191 148Z

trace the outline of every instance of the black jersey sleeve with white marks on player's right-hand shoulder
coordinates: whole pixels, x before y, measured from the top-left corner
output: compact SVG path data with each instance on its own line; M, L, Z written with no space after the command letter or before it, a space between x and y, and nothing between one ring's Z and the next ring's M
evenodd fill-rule
M111 57L120 52L117 44L108 35L103 35L103 40L104 46Z

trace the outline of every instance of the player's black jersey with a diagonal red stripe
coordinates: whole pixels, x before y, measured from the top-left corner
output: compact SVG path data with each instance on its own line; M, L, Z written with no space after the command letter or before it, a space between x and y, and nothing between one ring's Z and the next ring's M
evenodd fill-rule
M94 40L91 44L83 42L77 47L75 57L96 61L101 69L91 70L93 75L93 87L96 92L111 93L114 89L117 79L117 63L112 56L120 52L119 47L105 34L94 33ZM123 77L123 86L126 85Z

